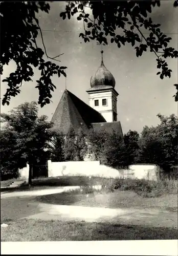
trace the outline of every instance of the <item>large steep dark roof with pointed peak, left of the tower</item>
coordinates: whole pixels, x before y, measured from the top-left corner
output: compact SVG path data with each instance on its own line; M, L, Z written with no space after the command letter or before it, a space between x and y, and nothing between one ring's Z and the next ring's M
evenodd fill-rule
M62 134L68 133L71 124L78 134L80 127L87 133L91 123L106 122L99 112L68 90L64 91L51 121L54 123L53 129Z

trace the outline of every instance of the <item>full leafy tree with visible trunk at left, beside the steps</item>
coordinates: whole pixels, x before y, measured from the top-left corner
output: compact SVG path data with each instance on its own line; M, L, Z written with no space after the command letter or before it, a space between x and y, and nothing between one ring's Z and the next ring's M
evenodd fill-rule
M32 185L33 164L48 150L49 141L53 136L52 122L47 116L38 117L36 102L25 102L10 111L1 114L4 129L10 129L15 136L16 154L29 163L29 186Z

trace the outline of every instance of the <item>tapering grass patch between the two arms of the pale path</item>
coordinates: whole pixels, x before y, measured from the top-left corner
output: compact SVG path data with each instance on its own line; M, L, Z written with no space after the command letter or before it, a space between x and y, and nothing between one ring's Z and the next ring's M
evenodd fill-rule
M143 198L133 191L115 190L113 193L90 193L79 194L64 192L60 194L45 195L36 197L37 201L42 203L77 205L90 207L139 207L139 208L164 208L168 210L177 210L177 195L164 195L159 198Z

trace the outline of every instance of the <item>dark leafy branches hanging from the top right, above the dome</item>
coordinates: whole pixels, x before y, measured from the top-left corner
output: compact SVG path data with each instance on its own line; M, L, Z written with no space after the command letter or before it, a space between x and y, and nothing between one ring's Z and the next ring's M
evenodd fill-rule
M177 58L178 51L168 46L171 37L160 30L160 24L154 24L149 14L155 6L160 7L161 1L80 1L68 2L60 16L65 19L77 15L77 20L83 21L84 33L80 33L84 42L97 40L100 44L108 44L108 40L117 44L118 48L126 43L135 47L136 56L140 57L148 49L157 60L157 75L160 78L171 76L166 59ZM174 2L177 7L177 1ZM92 14L87 10L91 9ZM117 33L117 29L122 32ZM149 31L145 36L143 28ZM176 89L178 84L174 84ZM177 93L173 96L177 101Z

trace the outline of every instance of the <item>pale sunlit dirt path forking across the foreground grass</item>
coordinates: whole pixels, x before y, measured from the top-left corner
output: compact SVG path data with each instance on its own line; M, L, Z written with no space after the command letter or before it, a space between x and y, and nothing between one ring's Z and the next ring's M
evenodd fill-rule
M77 188L77 187L73 187ZM1 195L1 221L8 219L40 219L104 222L151 227L177 228L177 212L146 207L88 207L86 205L56 205L41 203L35 197L59 194L71 187L59 187L34 191L16 191Z

